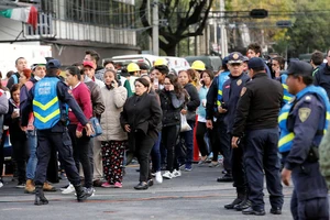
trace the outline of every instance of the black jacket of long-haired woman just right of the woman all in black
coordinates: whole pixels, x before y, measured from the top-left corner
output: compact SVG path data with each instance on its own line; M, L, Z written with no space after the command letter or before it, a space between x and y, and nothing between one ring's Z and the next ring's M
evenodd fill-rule
M161 108L163 110L163 127L180 124L180 111L185 105L185 94L177 98L174 91L160 91Z

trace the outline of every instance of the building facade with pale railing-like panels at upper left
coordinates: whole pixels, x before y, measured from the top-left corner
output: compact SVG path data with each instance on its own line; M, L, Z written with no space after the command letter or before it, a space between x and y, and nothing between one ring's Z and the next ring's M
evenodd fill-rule
M0 9L6 1L0 1ZM86 50L101 57L138 54L134 0L16 0L38 10L37 28L0 18L0 42L52 46L64 65L81 62ZM0 45L1 46L1 45Z

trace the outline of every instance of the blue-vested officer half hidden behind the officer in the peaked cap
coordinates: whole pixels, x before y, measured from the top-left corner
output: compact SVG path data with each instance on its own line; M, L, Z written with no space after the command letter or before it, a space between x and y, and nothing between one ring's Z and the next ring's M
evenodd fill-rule
M228 61L224 57L223 61ZM220 73L213 80L207 94L206 105L206 119L207 128L210 130L209 135L211 145L219 147L220 153L223 156L223 168L226 174L219 177L218 182L232 182L231 165L230 165L230 136L227 133L227 127L223 121L224 116L220 114L218 109L221 106L222 100L222 85L229 79L230 72ZM218 162L218 151L213 151L213 160L211 163Z

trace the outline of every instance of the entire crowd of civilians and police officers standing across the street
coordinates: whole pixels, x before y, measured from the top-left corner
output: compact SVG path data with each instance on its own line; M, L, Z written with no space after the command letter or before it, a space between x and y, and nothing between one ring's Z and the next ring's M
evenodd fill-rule
M196 138L198 166L218 167L221 158L217 182L233 182L237 189L226 209L264 216L265 176L270 212L280 215L282 182L288 185L293 176L293 217L329 219L318 146L329 122L330 51L328 63L315 52L310 64L290 59L287 69L280 56L261 58L258 44L246 51L223 57L219 70L196 61L177 74L165 58L143 72L135 63L100 67L95 51L66 68L54 58L19 57L18 72L0 90L2 140L9 130L18 187L46 205L44 191L56 190L50 183L59 176L70 183L62 193L76 191L82 201L95 187L124 187L125 166L135 157L134 188L145 190L153 177L162 184L193 170Z

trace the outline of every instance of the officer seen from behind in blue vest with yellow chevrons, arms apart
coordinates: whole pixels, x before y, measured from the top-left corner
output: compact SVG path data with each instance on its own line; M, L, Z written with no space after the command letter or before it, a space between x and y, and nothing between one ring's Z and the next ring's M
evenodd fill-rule
M52 148L58 151L64 163L68 180L73 183L77 200L82 201L87 194L80 184L80 177L73 158L72 140L67 132L67 105L73 110L79 122L85 125L87 135L92 133L92 128L85 118L75 98L69 94L69 88L59 80L61 63L51 59L46 64L46 76L37 81L30 90L29 98L22 106L22 129L26 130L29 113L33 110L34 127L37 135L37 165L35 172L35 201L34 205L46 205L43 184L46 180L47 165Z

